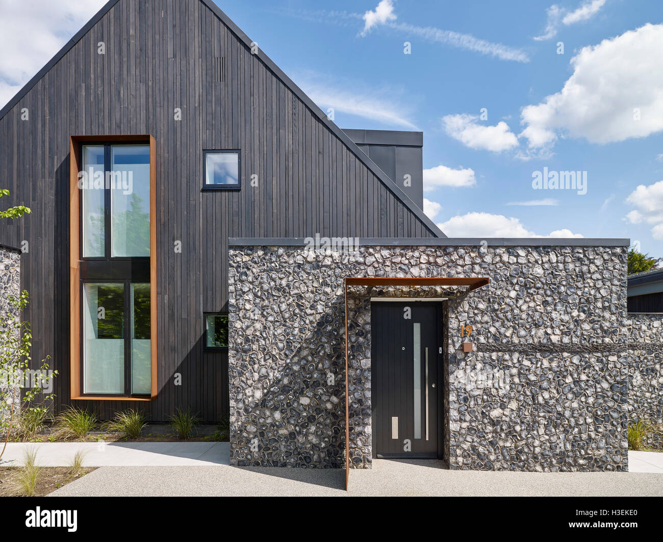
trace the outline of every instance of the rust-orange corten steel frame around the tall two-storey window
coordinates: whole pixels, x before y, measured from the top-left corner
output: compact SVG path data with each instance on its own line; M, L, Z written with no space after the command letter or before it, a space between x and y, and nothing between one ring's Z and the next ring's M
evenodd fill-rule
M151 391L149 396L127 396L123 394L84 394L82 387L82 291L81 264L99 261L99 258L82 258L81 193L78 188L78 172L82 171L82 149L86 144L149 144L150 147L150 348L151 348ZM152 401L158 392L157 379L157 307L156 307L156 140L151 135L78 135L70 138L70 189L69 189L69 240L70 240L70 399L99 401ZM106 240L108 241L108 240ZM105 244L107 244L105 241ZM108 250L111 247L105 247ZM144 257L147 260L147 257ZM115 257L110 261L127 262L131 258ZM113 282L107 279L88 278L88 282ZM147 282L136 280L133 282ZM125 296L128 294L125 292ZM125 299L126 301L126 299ZM129 333L131 330L127 330ZM126 386L125 382L125 386Z

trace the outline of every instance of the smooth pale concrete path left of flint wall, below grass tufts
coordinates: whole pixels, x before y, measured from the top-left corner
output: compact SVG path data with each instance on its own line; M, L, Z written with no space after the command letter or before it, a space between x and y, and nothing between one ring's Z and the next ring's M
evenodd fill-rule
M23 464L25 451L36 451L40 466L68 466L78 451L84 466L204 466L229 464L229 444L176 443L9 443L0 466Z

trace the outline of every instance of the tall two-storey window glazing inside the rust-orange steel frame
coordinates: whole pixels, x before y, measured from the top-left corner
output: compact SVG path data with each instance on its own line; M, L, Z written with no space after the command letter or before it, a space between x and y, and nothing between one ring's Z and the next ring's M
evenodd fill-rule
M151 147L84 144L80 207L80 390L152 393Z

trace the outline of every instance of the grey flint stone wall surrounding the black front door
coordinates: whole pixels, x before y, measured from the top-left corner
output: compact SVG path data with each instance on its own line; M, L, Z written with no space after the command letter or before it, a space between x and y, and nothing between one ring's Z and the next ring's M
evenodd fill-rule
M371 465L371 296L444 296L450 468L627 470L627 249L479 248L231 247L231 464L343 466L345 276L488 276L469 293L349 292L351 465Z

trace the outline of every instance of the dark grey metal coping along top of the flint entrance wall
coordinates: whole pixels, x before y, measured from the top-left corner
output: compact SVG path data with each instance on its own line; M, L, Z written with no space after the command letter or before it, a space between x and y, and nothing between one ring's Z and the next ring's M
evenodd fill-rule
M341 237L341 236L339 236ZM631 246L631 239L544 239L541 237L509 239L507 237L445 237L443 239L419 238L360 238L359 244L365 246ZM302 237L231 237L229 246L304 246Z

